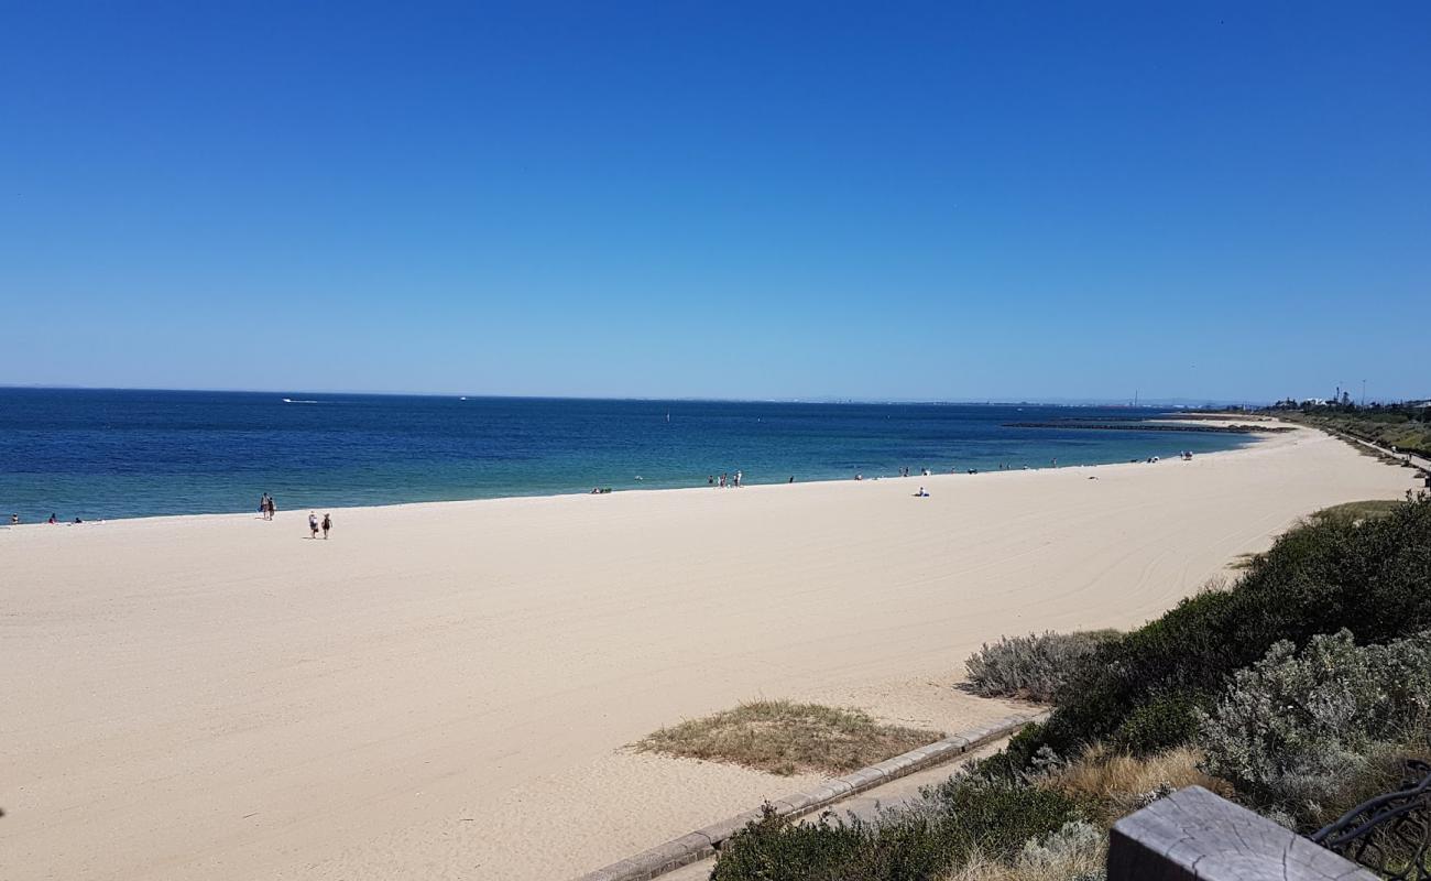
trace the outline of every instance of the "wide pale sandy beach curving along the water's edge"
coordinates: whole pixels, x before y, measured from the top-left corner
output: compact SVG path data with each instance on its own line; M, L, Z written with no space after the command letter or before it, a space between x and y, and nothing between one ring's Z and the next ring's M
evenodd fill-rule
M1191 463L353 509L329 541L308 511L4 530L0 877L560 878L809 784L621 751L663 723L756 696L1006 715L949 688L982 642L1141 623L1299 516L1408 486L1296 431Z

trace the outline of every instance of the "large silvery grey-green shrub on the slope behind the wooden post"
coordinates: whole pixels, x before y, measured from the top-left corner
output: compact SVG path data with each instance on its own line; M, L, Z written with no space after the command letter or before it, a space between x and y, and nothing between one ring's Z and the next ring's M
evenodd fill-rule
M1379 745L1424 736L1431 713L1431 632L1358 646L1349 630L1291 642L1238 672L1201 719L1212 774L1299 822L1349 807Z

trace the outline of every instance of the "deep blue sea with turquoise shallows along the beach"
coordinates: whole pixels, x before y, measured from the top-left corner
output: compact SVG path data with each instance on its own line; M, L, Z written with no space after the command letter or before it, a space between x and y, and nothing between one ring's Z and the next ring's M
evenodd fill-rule
M0 513L27 523L992 470L1229 450L1228 434L1012 428L1155 410L0 388ZM670 418L667 418L670 415ZM638 480L640 477L640 480Z

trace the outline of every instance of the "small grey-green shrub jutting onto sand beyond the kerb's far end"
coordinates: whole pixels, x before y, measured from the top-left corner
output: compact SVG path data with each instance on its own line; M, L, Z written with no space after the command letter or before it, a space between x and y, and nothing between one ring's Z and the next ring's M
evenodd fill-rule
M1118 630L1005 636L964 662L969 688L985 698L1052 702L1073 669L1116 637Z

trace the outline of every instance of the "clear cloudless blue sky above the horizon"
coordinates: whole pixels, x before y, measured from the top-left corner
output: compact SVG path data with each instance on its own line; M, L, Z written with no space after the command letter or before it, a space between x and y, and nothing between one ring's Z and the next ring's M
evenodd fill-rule
M54 0L0 77L0 384L1431 394L1424 0Z

